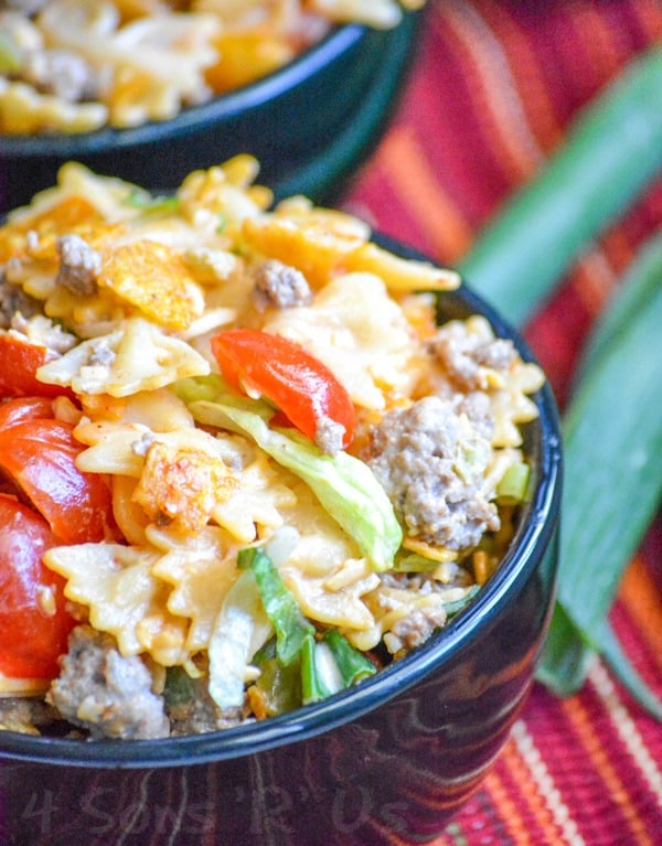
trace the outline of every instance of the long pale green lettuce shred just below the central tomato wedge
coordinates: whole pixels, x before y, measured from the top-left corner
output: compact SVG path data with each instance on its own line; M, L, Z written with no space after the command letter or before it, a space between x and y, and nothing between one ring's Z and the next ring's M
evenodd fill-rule
M256 410L248 410L249 403L253 400L243 400L239 407L200 399L190 401L189 410L200 422L253 438L260 449L310 486L375 570L391 569L402 543L402 529L388 496L367 464L346 452L324 454L298 432L270 429L261 414L268 406L258 403Z

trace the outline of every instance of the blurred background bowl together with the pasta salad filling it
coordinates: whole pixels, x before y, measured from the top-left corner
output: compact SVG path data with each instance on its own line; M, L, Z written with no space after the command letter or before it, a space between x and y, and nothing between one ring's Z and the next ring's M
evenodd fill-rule
M172 190L250 152L282 195L337 190L384 128L420 0L53 0L0 11L0 212L57 168ZM406 7L406 8L405 8Z

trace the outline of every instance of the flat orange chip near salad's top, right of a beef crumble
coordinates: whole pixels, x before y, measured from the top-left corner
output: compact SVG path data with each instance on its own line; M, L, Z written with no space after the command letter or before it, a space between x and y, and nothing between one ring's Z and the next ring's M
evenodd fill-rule
M98 283L168 329L186 329L204 310L202 289L182 257L153 240L124 244L108 251Z

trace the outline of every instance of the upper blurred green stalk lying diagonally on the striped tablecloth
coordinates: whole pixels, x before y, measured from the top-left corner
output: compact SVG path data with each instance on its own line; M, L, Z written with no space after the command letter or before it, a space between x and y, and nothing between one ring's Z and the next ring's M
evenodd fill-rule
M662 47L651 47L587 105L562 147L500 208L458 270L522 324L588 243L662 169Z

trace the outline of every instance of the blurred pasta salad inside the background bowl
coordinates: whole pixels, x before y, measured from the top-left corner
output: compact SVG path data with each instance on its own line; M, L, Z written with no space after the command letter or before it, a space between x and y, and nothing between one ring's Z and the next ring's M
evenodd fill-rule
M291 62L334 24L392 28L425 0L9 0L0 133L167 120Z

